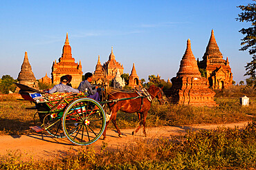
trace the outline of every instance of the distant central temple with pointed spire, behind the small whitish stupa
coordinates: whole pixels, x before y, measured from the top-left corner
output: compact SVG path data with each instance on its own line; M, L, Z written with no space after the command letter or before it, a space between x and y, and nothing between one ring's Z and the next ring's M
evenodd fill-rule
M116 76L116 72L119 70L120 74L123 74L124 67L116 61L116 56L113 54L113 47L111 47L111 54L109 55L109 61L103 64L105 77L112 81Z

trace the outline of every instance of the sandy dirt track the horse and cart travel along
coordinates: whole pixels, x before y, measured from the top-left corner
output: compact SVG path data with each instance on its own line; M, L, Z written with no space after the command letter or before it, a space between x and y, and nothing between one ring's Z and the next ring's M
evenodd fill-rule
M244 127L247 122L232 123L226 125L195 125L183 127L148 127L147 138L170 138L171 135L185 134L186 129L216 129L217 127ZM131 132L134 129L121 129L122 138L118 137L115 130L107 130L107 138L94 142L92 145L97 149L100 148L102 142L107 142L107 146L111 148L122 147L125 144L140 140L143 137L142 129L134 136ZM27 156L33 156L34 159L49 159L60 154L65 154L70 148L80 149L80 146L75 146L66 138L52 138L49 135L31 134L22 136L0 136L0 155L5 155L8 151L19 150Z

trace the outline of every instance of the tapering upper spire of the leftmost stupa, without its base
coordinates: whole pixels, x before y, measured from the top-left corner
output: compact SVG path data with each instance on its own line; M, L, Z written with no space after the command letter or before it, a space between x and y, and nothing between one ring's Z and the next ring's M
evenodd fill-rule
M21 65L21 72L17 78L18 81L35 81L35 75L32 72L31 65L28 61L28 53L25 52L24 61Z

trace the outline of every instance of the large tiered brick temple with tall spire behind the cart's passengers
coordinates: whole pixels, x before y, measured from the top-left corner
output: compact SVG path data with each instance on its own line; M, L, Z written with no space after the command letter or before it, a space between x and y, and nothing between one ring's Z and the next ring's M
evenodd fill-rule
M57 63L56 60L53 62L52 67L52 81L53 84L60 83L60 77L69 74L72 76L71 84L73 87L78 87L82 81L82 65L75 63L75 59L71 54L71 46L68 42L68 33L66 33L66 41L63 46L62 56Z

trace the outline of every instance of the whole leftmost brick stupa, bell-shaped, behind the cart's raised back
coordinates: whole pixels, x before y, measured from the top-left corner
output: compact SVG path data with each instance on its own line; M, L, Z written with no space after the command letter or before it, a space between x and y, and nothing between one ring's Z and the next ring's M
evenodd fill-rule
M33 87L34 89L39 89L38 82L28 61L27 52L25 52L24 61L21 65L21 72L19 72L17 80L20 84L27 85L28 87Z

